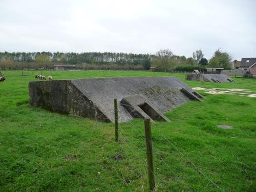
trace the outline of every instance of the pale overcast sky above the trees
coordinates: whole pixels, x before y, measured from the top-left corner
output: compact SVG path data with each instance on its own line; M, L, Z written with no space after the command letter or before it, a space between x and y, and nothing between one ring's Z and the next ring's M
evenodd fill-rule
M0 52L256 57L256 1L0 0Z

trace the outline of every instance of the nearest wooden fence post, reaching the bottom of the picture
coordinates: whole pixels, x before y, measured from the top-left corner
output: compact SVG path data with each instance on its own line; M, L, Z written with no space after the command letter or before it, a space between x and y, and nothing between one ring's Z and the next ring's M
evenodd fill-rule
M155 178L154 178L154 168L153 168L153 147L152 147L150 119L146 118L144 120L144 125L145 125L145 139L146 139L148 183L150 184L150 190L154 190Z

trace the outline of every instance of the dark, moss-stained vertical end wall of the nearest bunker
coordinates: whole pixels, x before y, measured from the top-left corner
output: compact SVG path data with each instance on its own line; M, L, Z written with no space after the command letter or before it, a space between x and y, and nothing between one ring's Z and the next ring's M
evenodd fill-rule
M70 80L29 82L29 96L33 106L110 122Z

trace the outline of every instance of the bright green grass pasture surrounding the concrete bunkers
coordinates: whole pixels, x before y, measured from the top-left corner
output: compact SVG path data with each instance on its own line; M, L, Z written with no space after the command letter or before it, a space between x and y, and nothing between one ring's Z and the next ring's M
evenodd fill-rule
M29 105L28 82L36 80L37 73L3 71L7 80L0 83L0 191L147 191L143 120L121 123L122 142L116 143L113 123L34 108ZM256 79L244 78L201 85L171 73L43 74L55 80L175 76L190 87L256 91ZM256 98L199 92L203 102L190 101L165 113L170 123L152 123L157 191L256 191ZM122 159L113 158L118 154Z

